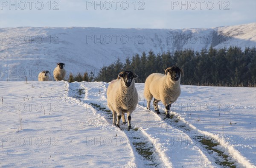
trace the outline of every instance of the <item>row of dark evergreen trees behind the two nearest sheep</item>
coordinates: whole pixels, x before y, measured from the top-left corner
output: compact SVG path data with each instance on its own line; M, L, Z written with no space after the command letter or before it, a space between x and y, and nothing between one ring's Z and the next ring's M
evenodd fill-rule
M208 86L256 86L256 48L238 47L177 50L174 53L149 51L136 54L125 63L120 59L101 68L95 81L109 82L121 71L133 71L145 82L151 73L164 73L167 67L176 65L183 69L181 84Z

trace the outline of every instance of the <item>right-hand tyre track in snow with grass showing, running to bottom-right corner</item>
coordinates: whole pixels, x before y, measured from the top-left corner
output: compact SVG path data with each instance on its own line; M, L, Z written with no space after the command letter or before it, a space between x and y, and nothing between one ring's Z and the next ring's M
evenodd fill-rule
M146 109L145 106L141 108ZM164 108L161 108L161 111L165 111ZM148 110L149 111L149 110ZM154 111L150 110L156 117L161 118L165 123L170 126L175 126L177 129L185 132L189 135L190 138L198 142L198 147L204 151L206 155L212 157L216 164L221 167L246 167L246 168L255 168L245 157L243 157L239 151L237 151L233 146L231 146L224 137L220 137L216 134L210 132L201 131L197 129L192 124L186 122L179 114L171 112L171 119L166 119L165 115L157 115ZM210 143L209 145L207 145ZM213 145L213 147L212 147ZM206 153L207 152L207 153ZM221 154L219 154L221 153ZM212 160L210 159L210 160ZM228 163L229 162L229 163Z

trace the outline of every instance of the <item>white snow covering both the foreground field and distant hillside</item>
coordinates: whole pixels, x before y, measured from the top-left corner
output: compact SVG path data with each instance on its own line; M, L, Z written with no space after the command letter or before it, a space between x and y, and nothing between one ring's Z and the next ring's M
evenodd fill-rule
M173 118L165 119L163 104L161 115L146 109L144 84L136 83L139 104L128 131L112 125L108 83L37 81L57 62L67 74L97 75L143 51L256 47L255 28L1 28L0 167L227 167L222 152L236 167L255 168L256 88L182 85ZM209 150L200 140L218 145Z

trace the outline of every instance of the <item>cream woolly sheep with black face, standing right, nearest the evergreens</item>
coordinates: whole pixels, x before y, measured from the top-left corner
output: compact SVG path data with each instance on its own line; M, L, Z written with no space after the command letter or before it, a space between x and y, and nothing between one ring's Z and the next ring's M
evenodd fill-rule
M150 109L150 102L154 97L155 112L160 114L158 102L162 101L166 109L166 118L170 118L171 105L180 96L180 73L183 73L183 71L179 67L173 66L165 70L165 75L152 73L146 78L144 96L147 100L147 109Z

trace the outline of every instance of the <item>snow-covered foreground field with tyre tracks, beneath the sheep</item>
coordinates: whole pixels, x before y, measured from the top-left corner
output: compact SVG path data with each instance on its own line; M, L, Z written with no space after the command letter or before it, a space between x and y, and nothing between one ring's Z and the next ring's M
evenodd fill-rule
M107 87L1 81L0 167L256 167L256 88L182 85L165 119L136 83L128 131L112 125Z

